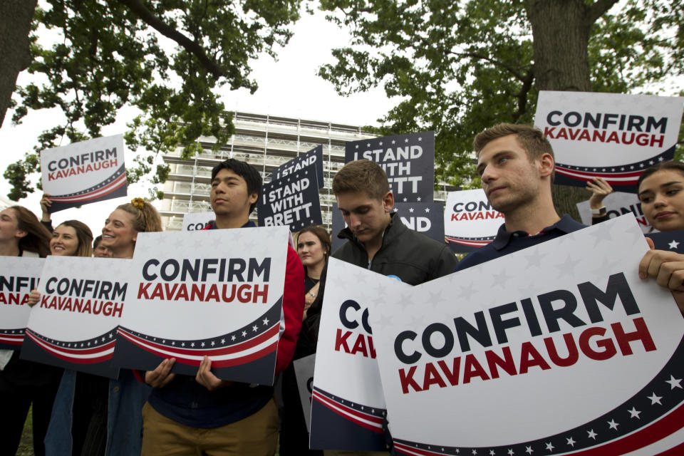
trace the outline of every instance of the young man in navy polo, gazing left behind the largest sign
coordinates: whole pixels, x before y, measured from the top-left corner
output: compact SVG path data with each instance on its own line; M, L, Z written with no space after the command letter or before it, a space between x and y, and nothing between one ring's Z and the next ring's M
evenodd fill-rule
M506 222L494 241L462 259L457 271L584 228L556 212L554 151L541 130L502 123L477 135L473 145L482 190Z

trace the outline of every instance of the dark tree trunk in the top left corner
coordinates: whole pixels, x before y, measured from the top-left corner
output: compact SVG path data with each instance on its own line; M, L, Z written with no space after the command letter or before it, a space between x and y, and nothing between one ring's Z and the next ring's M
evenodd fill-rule
M31 63L28 34L38 0L0 1L0 127L19 73Z

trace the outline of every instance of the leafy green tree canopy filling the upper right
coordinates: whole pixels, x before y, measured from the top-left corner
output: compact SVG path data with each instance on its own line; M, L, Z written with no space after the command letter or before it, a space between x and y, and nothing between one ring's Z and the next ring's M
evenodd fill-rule
M468 182L474 174L472 138L496 123L532 123L539 90L626 93L684 70L684 6L676 0L321 5L353 39L350 47L333 51L336 63L320 68L320 76L343 95L383 85L400 101L381 119L378 133L435 130L437 180L453 185L479 184ZM586 28L587 42L571 43L581 33L561 34L568 28ZM549 52L540 56L535 46L559 36L569 38L561 38L566 42L551 50L559 58L549 62ZM584 56L571 53L578 47ZM582 58L589 59L586 74ZM562 65L574 71L569 81L556 77Z

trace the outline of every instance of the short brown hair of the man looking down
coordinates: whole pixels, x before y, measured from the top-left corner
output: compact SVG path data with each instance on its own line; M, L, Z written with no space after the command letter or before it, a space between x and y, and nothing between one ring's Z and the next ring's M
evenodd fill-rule
M383 168L371 160L348 162L333 178L333 193L365 192L369 197L383 199L390 183Z

